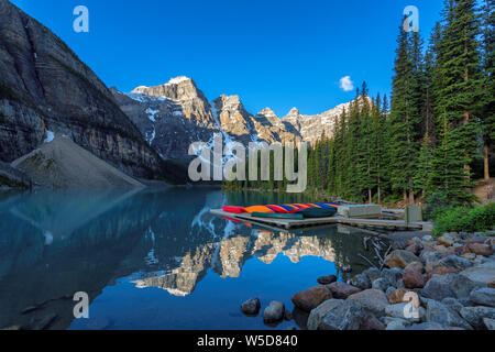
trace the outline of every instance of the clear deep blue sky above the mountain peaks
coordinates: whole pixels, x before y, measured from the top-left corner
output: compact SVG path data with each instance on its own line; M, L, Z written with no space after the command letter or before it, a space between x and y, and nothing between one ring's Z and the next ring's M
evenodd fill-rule
M256 113L314 114L346 102L339 80L389 94L398 26L416 6L427 38L441 0L14 0L122 91L185 75L208 99L239 95ZM89 9L89 33L73 10Z

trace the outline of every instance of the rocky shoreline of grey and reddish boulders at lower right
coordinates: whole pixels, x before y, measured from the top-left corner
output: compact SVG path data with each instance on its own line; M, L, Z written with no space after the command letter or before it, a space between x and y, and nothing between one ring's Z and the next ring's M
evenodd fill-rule
M319 277L295 294L295 310L309 330L494 330L495 231L392 237L384 268L370 267L346 282ZM241 310L255 316L260 299ZM282 301L262 311L265 323L293 317Z

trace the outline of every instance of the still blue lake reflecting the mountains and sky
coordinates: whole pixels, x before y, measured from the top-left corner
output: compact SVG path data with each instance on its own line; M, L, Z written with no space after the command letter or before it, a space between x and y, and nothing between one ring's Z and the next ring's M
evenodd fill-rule
M305 329L290 297L364 270L360 230L272 231L215 217L222 205L305 201L301 195L213 188L0 193L0 328ZM87 293L89 319L75 319ZM276 326L240 305L282 300Z

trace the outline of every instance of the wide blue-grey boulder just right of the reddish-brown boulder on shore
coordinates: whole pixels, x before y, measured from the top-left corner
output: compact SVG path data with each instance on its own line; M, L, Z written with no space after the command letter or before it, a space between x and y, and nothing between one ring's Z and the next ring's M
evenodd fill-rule
M433 275L425 285L421 295L435 300L447 297L468 299L476 287L476 283L460 274Z

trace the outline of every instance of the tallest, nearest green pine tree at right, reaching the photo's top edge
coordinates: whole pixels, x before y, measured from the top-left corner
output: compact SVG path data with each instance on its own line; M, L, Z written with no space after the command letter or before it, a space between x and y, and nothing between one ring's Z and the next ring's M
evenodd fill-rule
M474 7L474 0L447 1L446 25L433 73L437 90L433 112L441 139L435 156L444 160L433 163L432 186L459 201L473 198L469 194L469 187L474 185L470 164L477 147L477 120L472 112L479 109L483 96Z

